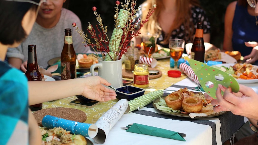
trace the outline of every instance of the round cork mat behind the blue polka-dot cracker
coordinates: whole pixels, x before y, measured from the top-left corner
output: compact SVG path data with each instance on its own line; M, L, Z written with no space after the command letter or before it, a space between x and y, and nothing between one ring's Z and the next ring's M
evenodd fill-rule
M42 126L42 119L46 115L60 117L63 119L77 121L77 122L84 122L87 118L86 114L79 109L64 108L64 107L41 109L33 112L33 115L39 126Z

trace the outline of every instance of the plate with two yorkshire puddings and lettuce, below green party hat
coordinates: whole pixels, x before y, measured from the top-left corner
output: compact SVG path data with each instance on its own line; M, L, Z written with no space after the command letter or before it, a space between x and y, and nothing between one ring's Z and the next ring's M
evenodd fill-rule
M165 114L189 118L214 117L227 113L214 112L210 102L202 92L180 88L167 96L157 98L153 101L153 106Z

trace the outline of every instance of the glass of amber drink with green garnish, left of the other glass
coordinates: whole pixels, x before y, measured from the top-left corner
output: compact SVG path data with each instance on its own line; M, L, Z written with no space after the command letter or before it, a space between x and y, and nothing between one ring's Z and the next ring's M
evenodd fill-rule
M142 42L143 42L143 51L147 57L151 57L151 54L155 52L155 47L157 43L157 35L151 35L147 34L142 36ZM150 50L151 49L151 50ZM150 53L148 53L150 51Z

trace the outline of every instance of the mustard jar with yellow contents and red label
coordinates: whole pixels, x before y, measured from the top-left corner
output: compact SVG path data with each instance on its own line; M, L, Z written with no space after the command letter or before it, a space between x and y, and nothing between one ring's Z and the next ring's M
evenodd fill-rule
M133 86L139 88L149 87L148 65L136 64L133 71Z

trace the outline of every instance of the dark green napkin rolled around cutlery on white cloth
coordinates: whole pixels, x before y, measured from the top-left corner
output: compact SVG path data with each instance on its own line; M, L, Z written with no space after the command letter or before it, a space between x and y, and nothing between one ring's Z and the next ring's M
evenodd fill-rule
M138 123L133 123L133 125L131 126L129 125L126 127L129 128L129 129L125 129L127 132L133 132L133 133L144 134L144 135L152 135L152 136L157 136L162 138L170 138L170 139L179 140L179 141L186 141L183 137L181 137L178 134L178 132L174 132L167 129L142 125Z

